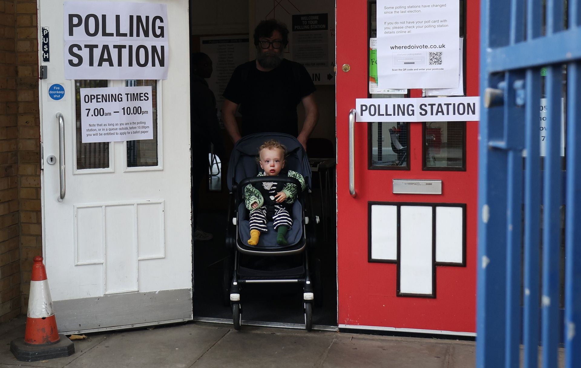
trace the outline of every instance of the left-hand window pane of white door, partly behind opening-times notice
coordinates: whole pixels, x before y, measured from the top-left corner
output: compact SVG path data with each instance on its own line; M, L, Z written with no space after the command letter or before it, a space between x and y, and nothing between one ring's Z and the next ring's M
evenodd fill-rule
M109 142L83 143L81 136L81 88L102 88L106 86L107 80L75 81L77 170L109 167Z

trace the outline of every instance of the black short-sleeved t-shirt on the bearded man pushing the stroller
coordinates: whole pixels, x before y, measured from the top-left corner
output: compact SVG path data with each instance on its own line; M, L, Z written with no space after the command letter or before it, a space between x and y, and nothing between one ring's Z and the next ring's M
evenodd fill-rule
M260 71L252 60L236 67L223 96L240 104L242 136L279 132L296 137L296 107L314 91L309 72L299 63L282 59L277 68Z

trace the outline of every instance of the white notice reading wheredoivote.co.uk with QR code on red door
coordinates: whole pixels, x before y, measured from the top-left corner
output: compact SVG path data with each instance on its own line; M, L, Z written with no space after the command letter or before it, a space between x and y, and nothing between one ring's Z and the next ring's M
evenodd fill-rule
M379 88L457 88L458 0L378 0Z

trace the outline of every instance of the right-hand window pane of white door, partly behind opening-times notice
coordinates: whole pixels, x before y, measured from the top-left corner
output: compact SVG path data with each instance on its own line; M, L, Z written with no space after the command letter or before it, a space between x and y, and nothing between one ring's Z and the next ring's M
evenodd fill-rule
M126 80L125 86L151 86L153 103L153 139L127 141L127 167L157 166L157 81L156 80Z

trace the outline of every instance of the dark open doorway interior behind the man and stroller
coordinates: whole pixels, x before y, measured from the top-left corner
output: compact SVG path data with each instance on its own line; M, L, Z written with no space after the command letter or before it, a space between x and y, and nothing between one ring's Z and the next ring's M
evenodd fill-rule
M320 60L303 60L303 64L324 64L318 68L307 67L317 88L315 96L320 111L317 127L307 143L313 173L311 190L315 214L319 218L319 247L315 254L321 259L321 278L324 284L323 303L313 311L315 328L337 325L334 6L333 1L311 4L309 1L285 0L274 5L270 1L190 2L191 50L206 53L213 63L213 74L207 82L216 95L218 114L223 100L221 95L232 71L239 64L253 60L256 56L252 32L260 20L275 18L289 27L290 43L285 50L286 58L300 60L301 57L315 56ZM317 14L324 29L314 34L292 31L293 24L300 21L296 16L306 14ZM313 42L313 37L321 42ZM311 50L310 54L304 55L304 50ZM300 129L304 118L301 104L297 112ZM192 121L195 118L192 116ZM228 300L224 300L223 295L223 268L227 264L227 258L231 257L231 252L225 248L225 229L227 222L232 221L226 216L231 197L225 180L233 145L224 129L221 129L221 135L225 147L224 157L202 157L209 161L211 171L202 179L199 193L192 192L192 197L196 194L199 196L198 227L212 235L211 240L193 242L193 315L195 320L232 323L231 306ZM299 285L286 285L282 288L247 286L244 293L242 324L291 328L304 326L302 287ZM321 298L321 295L318 297Z

